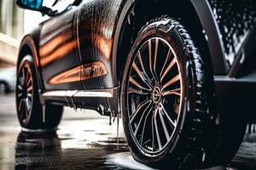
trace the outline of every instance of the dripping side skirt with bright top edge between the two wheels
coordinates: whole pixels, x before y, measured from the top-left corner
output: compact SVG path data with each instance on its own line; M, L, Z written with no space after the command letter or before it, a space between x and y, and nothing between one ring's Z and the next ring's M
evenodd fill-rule
M119 87L96 90L49 90L41 93L42 105L66 105L75 110L91 109L101 115L119 113Z

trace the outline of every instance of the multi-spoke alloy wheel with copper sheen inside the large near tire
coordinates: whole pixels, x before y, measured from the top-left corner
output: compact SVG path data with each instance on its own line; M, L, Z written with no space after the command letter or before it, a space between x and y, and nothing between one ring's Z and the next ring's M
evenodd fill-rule
M149 155L164 150L176 130L183 105L182 79L177 54L166 40L152 37L138 49L127 85L129 127L136 144Z

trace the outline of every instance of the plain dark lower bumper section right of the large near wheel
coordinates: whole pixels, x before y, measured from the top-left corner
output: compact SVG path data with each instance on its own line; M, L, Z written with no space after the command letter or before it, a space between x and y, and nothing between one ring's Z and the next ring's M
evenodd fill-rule
M245 77L214 77L219 111L239 112L241 115L256 110L256 72ZM232 117L230 117L232 119Z

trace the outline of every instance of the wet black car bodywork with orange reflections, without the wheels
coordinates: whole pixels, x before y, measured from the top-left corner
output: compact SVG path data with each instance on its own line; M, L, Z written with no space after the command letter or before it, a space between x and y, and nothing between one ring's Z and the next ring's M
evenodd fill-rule
M21 56L33 56L42 105L120 113L123 71L137 32L167 14L183 20L200 44L214 109L239 117L256 109L255 2L66 0L59 7L20 43L18 65Z

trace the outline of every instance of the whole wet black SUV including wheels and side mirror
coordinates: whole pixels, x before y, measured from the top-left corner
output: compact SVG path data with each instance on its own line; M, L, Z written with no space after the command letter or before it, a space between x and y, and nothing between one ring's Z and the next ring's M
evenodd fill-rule
M153 167L236 154L256 111L255 1L16 3L44 14L20 43L21 127L55 129L66 105L120 114L132 156Z

